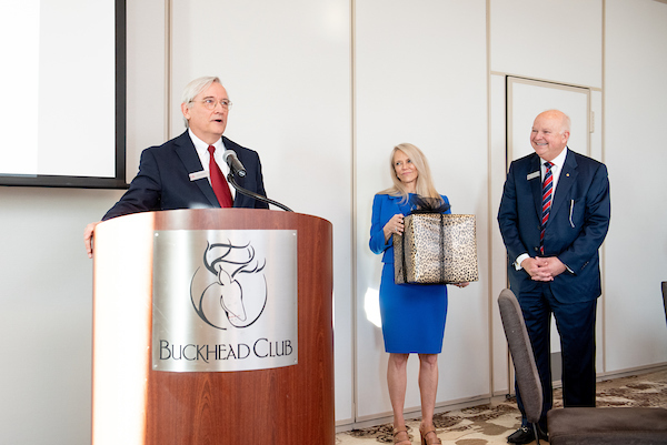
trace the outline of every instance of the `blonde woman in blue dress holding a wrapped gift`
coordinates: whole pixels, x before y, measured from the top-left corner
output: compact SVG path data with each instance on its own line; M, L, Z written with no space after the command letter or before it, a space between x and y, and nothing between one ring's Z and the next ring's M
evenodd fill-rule
M370 250L382 254L380 282L380 315L385 351L389 353L387 383L394 411L394 443L409 445L404 405L409 354L419 355L419 393L421 396L422 445L441 444L434 426L434 409L438 390L438 354L442 351L447 318L445 284L396 284L394 282L392 235L404 231L404 218L412 210L414 196L439 202L450 213L447 196L434 186L424 153L415 145L401 143L390 158L394 186L375 195ZM468 283L460 284L465 287Z

